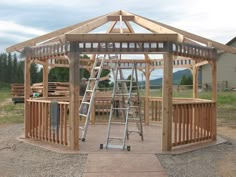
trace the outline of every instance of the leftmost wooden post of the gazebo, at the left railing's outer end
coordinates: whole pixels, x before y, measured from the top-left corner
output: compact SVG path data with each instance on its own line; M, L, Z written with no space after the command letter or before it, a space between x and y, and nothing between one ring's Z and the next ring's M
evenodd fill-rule
M25 138L28 138L30 131L30 108L27 100L30 98L30 51L29 47L25 48L25 72L24 72L24 124L25 124Z

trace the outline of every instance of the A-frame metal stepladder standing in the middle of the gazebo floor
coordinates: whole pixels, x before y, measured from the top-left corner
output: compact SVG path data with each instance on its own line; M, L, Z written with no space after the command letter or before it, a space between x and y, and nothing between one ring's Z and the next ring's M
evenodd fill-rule
M132 67L130 68L132 71L129 80L124 79L122 69L128 68L122 67L120 62L117 62L115 67L112 104L109 115L106 142L105 144L100 144L100 149L115 148L122 150L127 149L130 151L131 147L126 145L126 140L129 139L129 135L133 132L138 133L141 136L141 140L143 141L141 102L138 89L137 67L136 64L133 63ZM126 88L126 83L129 83L129 88ZM134 83L136 83L136 88L134 88ZM117 100L121 102L119 107L116 107ZM122 112L123 122L114 121L113 113L117 110ZM119 132L119 136L115 136L113 135L114 133L111 132L112 129L114 129L114 126L122 127L123 131L121 131L121 133Z

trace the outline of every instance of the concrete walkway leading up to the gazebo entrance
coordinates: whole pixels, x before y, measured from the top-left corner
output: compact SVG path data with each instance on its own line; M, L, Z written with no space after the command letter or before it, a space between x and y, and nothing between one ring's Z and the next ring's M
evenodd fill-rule
M88 154L83 177L167 177L155 154Z

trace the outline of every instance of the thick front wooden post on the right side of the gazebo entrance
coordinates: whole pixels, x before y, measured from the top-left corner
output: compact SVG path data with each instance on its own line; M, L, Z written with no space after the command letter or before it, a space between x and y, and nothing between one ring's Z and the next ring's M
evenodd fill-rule
M172 147L172 72L173 56L170 53L164 54L163 69L163 102L162 102L162 150L170 151Z

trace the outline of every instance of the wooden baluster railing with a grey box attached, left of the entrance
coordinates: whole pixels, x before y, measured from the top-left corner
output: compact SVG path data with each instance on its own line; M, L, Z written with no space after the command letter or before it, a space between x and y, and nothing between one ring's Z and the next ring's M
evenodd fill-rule
M28 121L28 136L33 139L49 141L61 145L68 145L68 102L58 102L58 124L55 126L52 123L51 116L51 101L48 100L27 100L29 112L27 115Z

